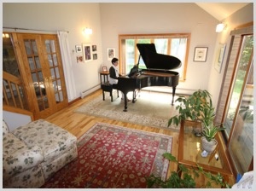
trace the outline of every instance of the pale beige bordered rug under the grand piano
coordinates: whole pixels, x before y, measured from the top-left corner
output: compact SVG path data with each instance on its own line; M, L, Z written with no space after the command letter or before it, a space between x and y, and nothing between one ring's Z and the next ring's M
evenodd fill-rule
M160 129L178 130L177 126L168 127L167 125L168 119L177 114L175 106L172 106L172 94L142 90L137 96L137 101L135 103L128 102L128 111L123 112L124 101L121 101L121 96L119 98L116 96L116 91L113 92L113 102L109 93L106 92L105 101L102 100L102 95L97 96L74 112ZM131 97L132 94L128 96Z

